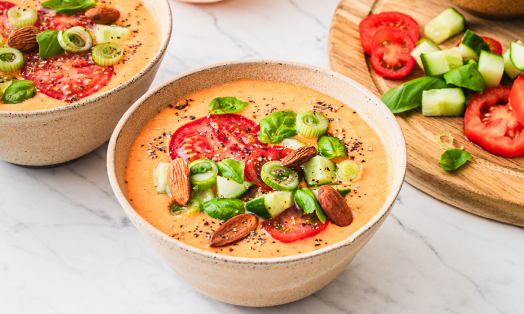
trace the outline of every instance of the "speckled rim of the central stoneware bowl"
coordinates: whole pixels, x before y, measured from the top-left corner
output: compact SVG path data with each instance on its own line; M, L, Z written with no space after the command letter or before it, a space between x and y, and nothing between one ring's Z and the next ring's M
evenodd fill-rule
M291 66L293 68L299 68L306 71L315 71L316 73L319 73L321 75L329 75L334 78L337 78L344 83L351 85L353 88L356 88L359 92L363 93L365 96L370 98L378 107L383 111L383 113L386 115L386 118L390 121L390 126L393 129L396 137L398 138L399 142L397 144L397 151L395 153L398 153L399 161L400 161L400 167L398 169L398 175L393 178L391 182L391 191L386 198L386 201L384 205L380 208L380 210L373 216L371 220L369 220L364 226L359 228L356 232L351 234L346 239L328 245L325 248L314 250L307 253L300 253L290 256L282 256L282 257L237 257L237 256L230 256L230 255L223 255L219 253L213 253L209 251L204 251L202 249L195 248L194 246L191 246L189 244L185 244L181 241L178 241L176 239L173 239L169 237L169 235L161 232L154 226L152 226L147 220L145 220L143 217L141 217L136 210L133 208L131 204L127 201L125 198L122 190L120 189L118 185L118 181L116 178L116 172L115 172L115 147L116 143L119 138L119 134L121 134L122 129L127 124L128 120L134 116L135 111L143 105L152 95L155 95L157 93L161 93L164 88L171 85L172 83L181 80L182 78L189 77L194 74L198 74L200 72L210 71L218 68L223 68L227 66L233 66L233 65L244 65L244 64L273 64L273 65L283 65L283 66ZM167 104L166 104L167 106ZM405 176L406 176L406 165L407 165L407 148L406 148L406 141L404 139L402 129L400 128L400 125L398 124L397 119L395 116L391 113L391 111L386 107L386 105L381 102L380 98L378 98L375 94L370 92L367 88L365 88L360 83L357 83L356 81L352 80L351 78L344 76L342 74L336 73L331 70L327 70L324 68L320 68L318 66L299 63L299 62L293 62L293 61L283 61L283 60L271 60L271 59L252 59L252 60L238 60L238 61L228 61L228 62L222 62L222 63L216 63L208 66L203 66L201 68L188 71L182 74L179 74L177 76L174 76L170 80L163 82L162 84L158 85L157 87L151 89L148 93L146 93L144 96L140 97L140 99L137 100L135 104L133 104L122 116L121 120L118 122L118 125L116 126L115 130L113 131L113 134L111 136L111 140L108 144L107 148L107 173L109 176L110 184L113 189L113 192L115 193L116 198L118 199L118 203L121 205L121 207L126 212L126 215L133 216L134 221L139 223L141 227L145 228L150 235L155 237L157 240L167 242L169 245L174 246L180 250L184 250L186 252L199 255L204 258L208 258L210 260L214 261L223 261L223 262L230 262L230 263L237 263L237 264L249 264L249 265L260 265L260 264L280 264L280 263L291 263L296 261L303 261L308 260L316 256L321 256L324 254L328 254L330 252L339 250L345 246L351 245L354 243L358 238L362 237L365 233L371 231L374 229L373 227L377 225L377 223L380 223L385 216L389 214L389 211L392 209L395 200L397 199L397 196L400 192L400 188L402 187L402 184L404 182ZM137 227L137 226L135 226ZM138 229L138 228L137 228Z

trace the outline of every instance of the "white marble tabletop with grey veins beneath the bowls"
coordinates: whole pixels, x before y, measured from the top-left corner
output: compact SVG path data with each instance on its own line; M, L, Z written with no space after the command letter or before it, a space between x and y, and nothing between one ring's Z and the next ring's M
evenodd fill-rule
M215 62L326 67L337 0L171 2L154 85ZM0 162L0 313L522 313L524 229L405 184L391 215L334 282L292 304L243 308L193 290L130 225L103 145L49 170Z

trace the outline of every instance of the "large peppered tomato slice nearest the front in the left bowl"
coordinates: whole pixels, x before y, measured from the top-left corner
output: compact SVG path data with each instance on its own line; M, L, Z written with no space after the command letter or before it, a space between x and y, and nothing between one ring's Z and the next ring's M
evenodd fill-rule
M113 66L100 66L91 54L64 52L43 60L38 52L31 54L21 75L35 82L39 92L60 100L78 101L100 91L113 75Z

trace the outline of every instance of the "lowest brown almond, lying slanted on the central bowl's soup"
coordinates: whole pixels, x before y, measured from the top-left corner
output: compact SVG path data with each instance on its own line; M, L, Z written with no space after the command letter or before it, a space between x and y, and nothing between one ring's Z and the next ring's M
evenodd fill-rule
M242 214L227 220L211 235L211 246L224 246L242 240L258 226L253 214Z

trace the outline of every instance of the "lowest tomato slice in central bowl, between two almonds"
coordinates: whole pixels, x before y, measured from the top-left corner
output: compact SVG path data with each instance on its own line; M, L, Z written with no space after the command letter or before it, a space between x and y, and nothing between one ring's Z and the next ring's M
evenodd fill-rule
M262 222L262 228L280 242L290 243L313 237L328 227L329 220L322 223L316 214L304 214L301 209L291 206L275 218Z

